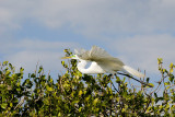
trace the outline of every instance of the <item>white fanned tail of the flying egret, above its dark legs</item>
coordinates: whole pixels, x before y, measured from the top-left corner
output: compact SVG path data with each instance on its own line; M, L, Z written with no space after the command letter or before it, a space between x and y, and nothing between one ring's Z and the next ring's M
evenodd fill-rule
M124 66L124 70L127 71L128 73L136 75L138 78L144 78L144 74L142 74L141 72L128 67L128 66Z

